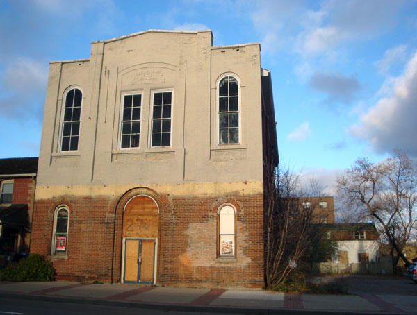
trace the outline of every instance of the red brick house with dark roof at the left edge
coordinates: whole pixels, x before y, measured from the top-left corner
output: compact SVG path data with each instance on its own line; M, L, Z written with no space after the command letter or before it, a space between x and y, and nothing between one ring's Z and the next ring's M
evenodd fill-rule
M37 168L38 157L0 159L0 266L28 252Z

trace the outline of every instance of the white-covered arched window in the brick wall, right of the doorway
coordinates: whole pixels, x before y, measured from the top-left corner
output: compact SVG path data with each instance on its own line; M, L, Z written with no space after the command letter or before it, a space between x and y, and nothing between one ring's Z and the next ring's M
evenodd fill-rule
M234 256L236 242L236 211L231 205L224 205L219 211L219 250L220 256Z

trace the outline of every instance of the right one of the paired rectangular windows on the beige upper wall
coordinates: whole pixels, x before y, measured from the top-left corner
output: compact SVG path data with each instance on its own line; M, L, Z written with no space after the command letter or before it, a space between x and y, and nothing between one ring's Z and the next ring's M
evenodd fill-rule
M152 92L151 146L171 145L172 91Z

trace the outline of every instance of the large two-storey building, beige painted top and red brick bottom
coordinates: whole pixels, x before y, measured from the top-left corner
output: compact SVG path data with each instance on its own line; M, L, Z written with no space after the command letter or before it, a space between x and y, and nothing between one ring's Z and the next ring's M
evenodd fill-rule
M57 278L263 285L278 162L260 45L143 31L51 62L31 252Z

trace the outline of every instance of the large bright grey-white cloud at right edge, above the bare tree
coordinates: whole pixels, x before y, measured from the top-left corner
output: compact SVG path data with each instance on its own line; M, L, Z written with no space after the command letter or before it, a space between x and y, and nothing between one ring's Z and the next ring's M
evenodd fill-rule
M391 91L350 128L355 137L370 142L377 152L401 148L417 157L417 53L401 76L393 79ZM387 89L385 89L387 90Z

